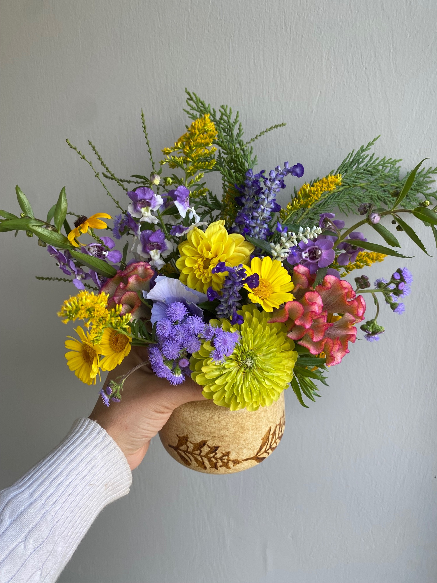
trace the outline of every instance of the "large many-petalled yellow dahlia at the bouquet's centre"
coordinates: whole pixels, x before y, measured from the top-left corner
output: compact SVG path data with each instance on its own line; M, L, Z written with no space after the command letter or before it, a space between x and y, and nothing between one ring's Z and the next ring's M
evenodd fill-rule
M178 246L181 254L176 262L181 272L179 279L202 293L206 293L209 287L220 290L225 275L212 273L212 269L220 261L231 267L241 263L246 265L254 249L242 235L228 234L224 220L211 223L205 233L195 227L189 231L187 240Z

